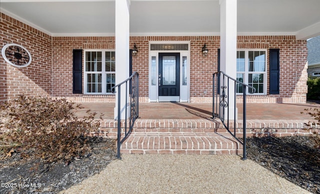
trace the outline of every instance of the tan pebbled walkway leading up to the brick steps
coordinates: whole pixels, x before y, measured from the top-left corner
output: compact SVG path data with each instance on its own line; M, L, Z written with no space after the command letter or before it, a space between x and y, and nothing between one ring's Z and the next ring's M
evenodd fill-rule
M309 194L251 160L217 155L123 155L60 194Z

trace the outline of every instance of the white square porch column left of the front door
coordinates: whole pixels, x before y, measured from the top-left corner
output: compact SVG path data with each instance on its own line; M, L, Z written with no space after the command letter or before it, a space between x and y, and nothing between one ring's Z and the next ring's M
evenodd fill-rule
M130 0L115 0L115 85L129 77L129 7ZM120 97L121 119L124 119L124 108L127 106L125 84L121 87ZM116 90L114 119L117 119L117 103L118 91Z

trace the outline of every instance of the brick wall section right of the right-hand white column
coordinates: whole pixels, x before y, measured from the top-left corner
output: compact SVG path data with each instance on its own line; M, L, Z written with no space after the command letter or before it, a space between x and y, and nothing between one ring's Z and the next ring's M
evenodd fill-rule
M295 36L238 36L237 48L280 49L280 94L268 94L268 79L268 95L250 95L247 97L248 102L304 103L306 101L306 40L296 40ZM267 64L269 64L269 52L267 52ZM267 78L268 77L269 66L267 65Z

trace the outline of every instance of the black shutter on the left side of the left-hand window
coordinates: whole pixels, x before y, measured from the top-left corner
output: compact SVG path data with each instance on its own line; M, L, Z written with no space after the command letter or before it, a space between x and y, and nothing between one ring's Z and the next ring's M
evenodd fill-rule
M82 50L73 49L72 93L82 94Z

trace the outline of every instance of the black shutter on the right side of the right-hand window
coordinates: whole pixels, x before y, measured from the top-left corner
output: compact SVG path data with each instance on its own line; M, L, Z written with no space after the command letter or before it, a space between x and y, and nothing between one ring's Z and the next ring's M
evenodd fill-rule
M280 92L280 49L269 49L270 53L270 87L269 94L279 94Z

